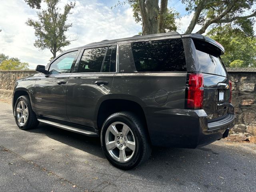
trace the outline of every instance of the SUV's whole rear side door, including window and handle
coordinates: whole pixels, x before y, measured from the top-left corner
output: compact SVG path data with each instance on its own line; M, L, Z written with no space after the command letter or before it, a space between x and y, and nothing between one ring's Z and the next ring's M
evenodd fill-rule
M67 86L70 122L94 129L96 106L110 94L116 72L116 45L85 49Z

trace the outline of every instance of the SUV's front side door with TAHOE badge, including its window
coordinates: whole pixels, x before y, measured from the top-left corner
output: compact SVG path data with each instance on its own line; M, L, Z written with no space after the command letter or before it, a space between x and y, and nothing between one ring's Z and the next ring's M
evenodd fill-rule
M49 74L41 74L34 86L36 114L69 121L66 114L66 87L79 51L68 52L54 60Z

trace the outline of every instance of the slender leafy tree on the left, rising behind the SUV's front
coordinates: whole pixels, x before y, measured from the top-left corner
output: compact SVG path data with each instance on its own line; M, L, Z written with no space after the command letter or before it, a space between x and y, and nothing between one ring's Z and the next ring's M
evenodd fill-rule
M44 1L47 4L47 10L37 13L39 20L28 19L26 24L35 29L37 40L34 46L40 50L50 49L55 58L56 52L61 52L64 46L68 46L70 41L73 41L67 40L65 32L72 26L71 23L67 24L66 20L68 14L71 14L71 9L75 7L75 3L66 4L64 12L60 13L60 8L57 7L60 0Z

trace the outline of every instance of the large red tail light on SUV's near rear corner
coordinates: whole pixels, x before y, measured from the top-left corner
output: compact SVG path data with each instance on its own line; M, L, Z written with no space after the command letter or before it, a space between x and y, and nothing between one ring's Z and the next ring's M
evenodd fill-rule
M204 77L202 73L188 73L186 83L187 109L202 109L204 96Z

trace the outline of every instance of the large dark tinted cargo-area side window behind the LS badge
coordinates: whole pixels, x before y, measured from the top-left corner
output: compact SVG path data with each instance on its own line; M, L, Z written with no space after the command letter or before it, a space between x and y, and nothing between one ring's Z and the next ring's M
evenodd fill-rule
M132 54L138 72L186 71L182 39L132 43Z

